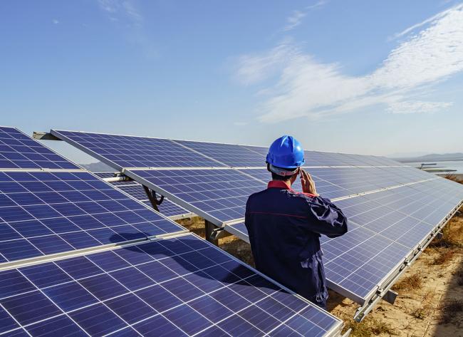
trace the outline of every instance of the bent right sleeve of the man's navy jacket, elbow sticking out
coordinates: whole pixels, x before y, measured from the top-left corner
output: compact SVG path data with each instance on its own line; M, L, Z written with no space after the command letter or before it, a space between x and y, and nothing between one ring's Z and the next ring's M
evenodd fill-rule
M328 237L340 237L348 231L347 217L330 199L312 197L307 200L308 226L312 232Z

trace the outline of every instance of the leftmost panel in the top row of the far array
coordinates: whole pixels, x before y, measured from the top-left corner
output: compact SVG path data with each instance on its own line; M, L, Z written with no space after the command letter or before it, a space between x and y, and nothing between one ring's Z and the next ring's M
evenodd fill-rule
M224 166L167 139L63 130L51 133L119 171L123 167Z

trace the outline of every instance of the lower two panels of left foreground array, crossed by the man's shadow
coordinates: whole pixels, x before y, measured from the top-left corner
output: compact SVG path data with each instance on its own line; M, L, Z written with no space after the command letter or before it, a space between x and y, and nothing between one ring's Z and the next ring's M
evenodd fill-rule
M0 170L0 336L340 335L338 318L184 232L85 170Z

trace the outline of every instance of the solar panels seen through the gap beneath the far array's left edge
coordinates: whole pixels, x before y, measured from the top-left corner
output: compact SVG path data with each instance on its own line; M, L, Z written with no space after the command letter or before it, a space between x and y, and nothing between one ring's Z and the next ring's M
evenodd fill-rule
M113 172L95 172L95 175L104 179L114 177ZM121 190L130 197L137 199L140 202L147 204L149 207L152 207L150 199L148 199L145 189L141 184L135 182L134 180L124 180L118 182L110 182L111 185L116 187L118 190ZM182 217L189 217L192 215L192 212L189 212L187 209L175 204L175 202L170 201L167 198L162 200L162 203L157 205L159 212L164 214L166 217L171 219L180 219Z

